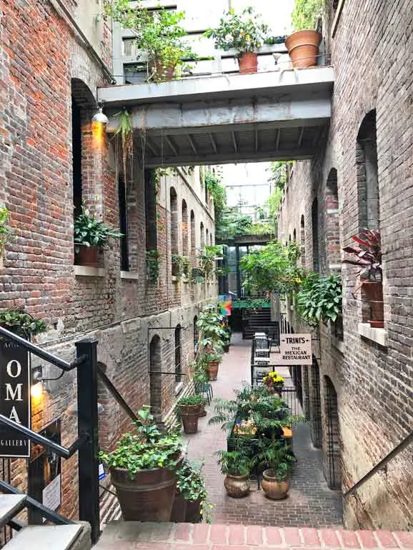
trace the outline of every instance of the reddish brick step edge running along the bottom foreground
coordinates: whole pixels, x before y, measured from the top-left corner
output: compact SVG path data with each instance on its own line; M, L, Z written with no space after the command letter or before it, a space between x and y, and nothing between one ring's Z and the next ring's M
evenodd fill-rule
M111 521L95 550L408 549L413 531L347 531L257 525Z

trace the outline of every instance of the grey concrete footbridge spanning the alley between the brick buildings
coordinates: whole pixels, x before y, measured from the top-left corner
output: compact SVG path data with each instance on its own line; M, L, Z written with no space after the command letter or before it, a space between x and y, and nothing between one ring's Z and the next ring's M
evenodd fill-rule
M99 89L116 129L131 113L147 167L309 159L331 117L332 67Z

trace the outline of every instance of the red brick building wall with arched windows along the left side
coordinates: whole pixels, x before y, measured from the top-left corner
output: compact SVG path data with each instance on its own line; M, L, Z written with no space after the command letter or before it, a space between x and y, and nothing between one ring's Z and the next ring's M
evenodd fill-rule
M215 282L193 284L190 269L199 249L214 244L214 205L202 169L145 170L92 123L96 88L113 81L111 27L96 10L87 0L0 2L0 204L11 227L0 309L42 319L36 343L68 361L76 341L96 338L100 366L131 409L150 405L167 422L186 391L196 315L217 296ZM75 265L82 205L123 234L101 250L99 267ZM154 251L157 276L147 261ZM173 274L173 256L188 259L186 276ZM59 421L69 446L76 374L51 380L59 369L41 366L32 427ZM111 448L130 421L104 386L99 401L99 443ZM0 475L27 491L30 463L2 460ZM76 519L78 504L73 456L62 461L59 512Z

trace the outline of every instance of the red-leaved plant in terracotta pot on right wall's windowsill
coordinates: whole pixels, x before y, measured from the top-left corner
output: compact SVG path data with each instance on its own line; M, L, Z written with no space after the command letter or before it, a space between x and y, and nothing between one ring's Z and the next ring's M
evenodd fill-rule
M369 303L369 311L367 311L369 324L377 329L382 329L384 327L384 304L380 233L377 229L364 229L359 236L353 235L352 239L359 246L345 246L343 250L347 254L356 256L356 259L344 259L343 263L360 267L358 276L362 296Z

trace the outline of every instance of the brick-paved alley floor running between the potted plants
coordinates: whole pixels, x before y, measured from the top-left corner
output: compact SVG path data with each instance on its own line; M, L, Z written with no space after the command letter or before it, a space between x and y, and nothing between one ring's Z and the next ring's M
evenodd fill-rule
M212 382L215 397L232 398L233 389L242 381L250 381L249 361L251 341L243 341L239 334L232 336L232 346L219 367L218 380ZM341 526L342 497L331 491L322 474L322 451L314 449L309 437L308 424L294 428L294 453L297 456L292 473L289 496L283 501L266 499L257 484L244 499L232 499L224 489L224 476L219 471L218 449L227 449L227 434L220 426L209 426L212 406L208 415L199 419L199 431L189 437L190 459L205 460L204 474L209 501L214 504L213 523L255 524L269 526Z

